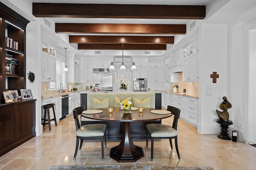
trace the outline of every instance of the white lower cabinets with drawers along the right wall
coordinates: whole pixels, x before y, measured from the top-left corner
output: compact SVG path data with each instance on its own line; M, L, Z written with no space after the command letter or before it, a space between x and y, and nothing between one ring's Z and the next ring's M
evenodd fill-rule
M194 127L198 124L199 101L196 98L162 92L162 107L173 106L180 109L180 118Z

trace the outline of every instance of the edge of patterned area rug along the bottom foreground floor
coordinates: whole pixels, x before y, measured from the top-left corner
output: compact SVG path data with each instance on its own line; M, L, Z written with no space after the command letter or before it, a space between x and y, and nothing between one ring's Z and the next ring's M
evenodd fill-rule
M50 166L48 170L213 170L211 167L166 167L136 165Z

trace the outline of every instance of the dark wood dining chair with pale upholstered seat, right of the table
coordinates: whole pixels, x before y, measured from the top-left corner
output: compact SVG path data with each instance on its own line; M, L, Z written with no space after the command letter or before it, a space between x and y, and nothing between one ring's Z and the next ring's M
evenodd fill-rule
M153 150L154 150L154 139L169 139L171 149L172 148L172 139L175 139L175 147L178 154L178 158L180 159L180 153L178 150L178 132L177 125L178 119L180 118L180 109L172 106L167 106L167 110L171 111L174 115L174 120L172 126L164 125L164 124L148 124L146 125L146 148L148 148L148 135L151 137L151 161L153 161Z

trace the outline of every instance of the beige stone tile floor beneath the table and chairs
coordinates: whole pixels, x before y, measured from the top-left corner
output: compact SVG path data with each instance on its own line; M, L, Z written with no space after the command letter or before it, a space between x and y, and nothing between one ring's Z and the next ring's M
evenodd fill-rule
M172 123L172 117L162 123ZM154 143L154 161L150 161L150 141L134 140L142 147L144 157L137 162L118 163L109 158L110 149L120 141L107 140L104 148L105 160L101 159L100 141L86 141L82 150L73 160L76 128L73 116L68 116L43 129L43 134L0 157L1 170L47 170L52 165L146 165L146 166L210 166L214 170L256 170L256 148L241 141L232 142L219 139L217 135L200 135L197 129L182 119L178 122L178 146L170 149L168 139ZM174 142L173 142L174 143ZM174 145L175 146L175 145Z

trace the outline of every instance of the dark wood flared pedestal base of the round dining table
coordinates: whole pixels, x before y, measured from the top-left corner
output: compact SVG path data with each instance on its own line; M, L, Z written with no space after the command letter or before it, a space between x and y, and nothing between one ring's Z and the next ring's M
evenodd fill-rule
M136 162L144 156L141 147L133 144L130 137L130 122L124 122L124 135L120 144L110 151L110 158L118 162Z

